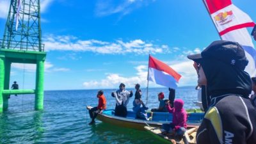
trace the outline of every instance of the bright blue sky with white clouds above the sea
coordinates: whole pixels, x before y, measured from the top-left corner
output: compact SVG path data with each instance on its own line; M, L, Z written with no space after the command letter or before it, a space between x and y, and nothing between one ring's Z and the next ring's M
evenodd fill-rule
M255 0L232 2L256 21ZM0 1L0 38L9 3ZM186 56L220 40L202 1L41 0L41 7L45 90L146 87L149 53L182 75L179 86L196 85ZM13 63L12 81L35 88L35 65Z

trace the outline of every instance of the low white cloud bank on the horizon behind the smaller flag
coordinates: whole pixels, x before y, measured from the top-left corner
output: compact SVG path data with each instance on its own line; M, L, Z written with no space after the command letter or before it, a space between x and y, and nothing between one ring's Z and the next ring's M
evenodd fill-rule
M83 83L84 88L118 88L118 84L125 83L127 88L133 88L135 83L140 83L141 87L147 87L147 65L139 65L135 67L137 73L135 76L124 77L120 74L107 74L105 79L100 81L86 81ZM171 65L182 77L179 81L179 86L196 85L197 76L193 68L193 61L182 61ZM159 85L150 82L150 87Z

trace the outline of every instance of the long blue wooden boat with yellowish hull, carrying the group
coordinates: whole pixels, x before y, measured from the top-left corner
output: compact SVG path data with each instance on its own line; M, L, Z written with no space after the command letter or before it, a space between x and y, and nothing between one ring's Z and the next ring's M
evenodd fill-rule
M97 119L113 125L121 127L127 127L131 129L139 129L145 131L144 126L161 127L162 124L169 124L172 122L172 113L163 112L148 112L149 120L141 120L136 118L136 113L133 111L127 111L126 117L115 116L114 109L108 109L103 111L97 116ZM195 127L200 125L204 113L188 113L188 127Z

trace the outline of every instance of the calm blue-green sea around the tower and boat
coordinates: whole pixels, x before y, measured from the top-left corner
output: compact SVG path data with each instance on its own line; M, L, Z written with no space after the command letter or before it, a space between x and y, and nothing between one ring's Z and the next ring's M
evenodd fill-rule
M134 89L127 89L132 90ZM146 89L142 99L146 101ZM107 108L115 108L113 90L104 90ZM164 92L168 99L168 88L150 88L148 107L157 108L157 93ZM90 116L85 106L97 106L97 90L45 91L44 110L34 111L34 95L11 96L9 109L0 114L0 143L159 143L144 131L116 127L97 120L88 125ZM194 86L176 90L176 98L185 102L185 108L197 108ZM132 108L132 96L128 109Z

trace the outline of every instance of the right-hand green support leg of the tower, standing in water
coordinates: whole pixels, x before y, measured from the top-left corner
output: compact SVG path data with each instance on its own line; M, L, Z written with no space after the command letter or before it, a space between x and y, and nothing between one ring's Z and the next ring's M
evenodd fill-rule
M44 109L44 61L36 63L35 110Z

